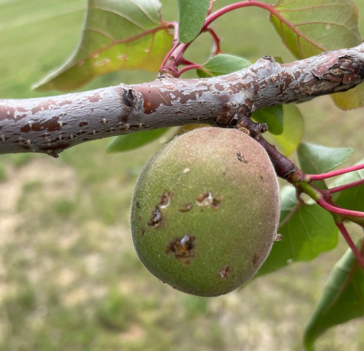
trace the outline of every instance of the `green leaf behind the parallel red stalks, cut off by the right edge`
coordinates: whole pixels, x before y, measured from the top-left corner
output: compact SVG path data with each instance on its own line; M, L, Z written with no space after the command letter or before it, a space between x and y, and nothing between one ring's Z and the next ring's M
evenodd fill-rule
M357 164L363 164L364 158ZM346 173L336 178L330 187L344 185L350 182L355 182L360 179L364 179L364 169L360 169L354 172ZM364 211L364 184L355 186L350 189L343 190L339 193L332 195L332 200L340 207L347 208L348 210Z

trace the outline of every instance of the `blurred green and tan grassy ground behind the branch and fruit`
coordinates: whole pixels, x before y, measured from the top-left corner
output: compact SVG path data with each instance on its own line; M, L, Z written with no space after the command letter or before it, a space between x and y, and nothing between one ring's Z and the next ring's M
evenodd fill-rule
M215 8L230 2L217 0ZM176 19L177 1L162 3L164 18ZM364 0L356 3L364 14ZM40 95L31 84L75 48L85 6L0 0L0 98ZM230 13L214 27L227 53L293 60L263 10ZM210 44L202 35L188 58L204 62ZM154 78L118 72L83 89ZM299 107L305 141L353 147L350 163L363 157L363 109L342 112L328 97ZM139 262L128 227L136 177L161 141L111 155L107 143L89 142L58 159L0 156L0 350L301 350L305 323L345 244L218 298L173 290ZM331 329L317 350L364 350L361 322Z

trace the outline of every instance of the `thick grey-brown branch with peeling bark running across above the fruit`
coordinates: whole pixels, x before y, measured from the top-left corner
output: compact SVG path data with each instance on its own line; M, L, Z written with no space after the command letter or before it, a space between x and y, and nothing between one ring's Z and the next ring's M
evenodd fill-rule
M0 100L0 153L52 156L84 141L140 130L210 123L221 127L264 107L344 91L364 79L364 43L280 65L264 56L232 74L162 76L51 98Z

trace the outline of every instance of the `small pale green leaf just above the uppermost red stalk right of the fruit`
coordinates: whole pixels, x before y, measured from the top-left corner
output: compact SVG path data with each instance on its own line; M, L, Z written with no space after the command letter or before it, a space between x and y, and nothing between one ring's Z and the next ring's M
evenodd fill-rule
M297 149L299 165L308 174L325 173L342 165L353 151L351 148L328 148L309 143L301 143Z

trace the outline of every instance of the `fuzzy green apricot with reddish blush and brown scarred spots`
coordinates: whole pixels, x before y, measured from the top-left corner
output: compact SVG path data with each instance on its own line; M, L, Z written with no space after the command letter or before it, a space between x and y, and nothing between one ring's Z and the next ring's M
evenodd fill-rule
M200 128L166 144L142 170L132 238L157 278L218 296L257 272L279 217L279 185L263 147L235 129Z

